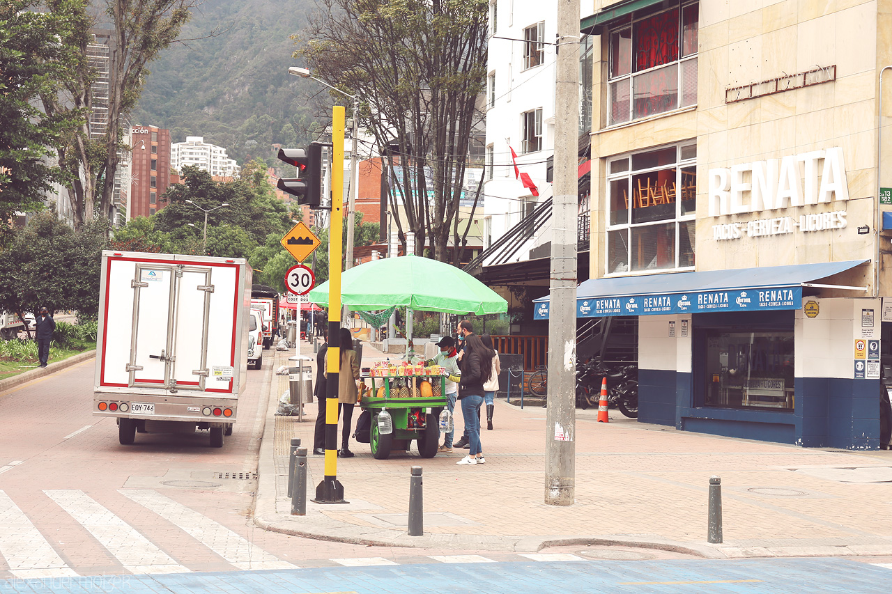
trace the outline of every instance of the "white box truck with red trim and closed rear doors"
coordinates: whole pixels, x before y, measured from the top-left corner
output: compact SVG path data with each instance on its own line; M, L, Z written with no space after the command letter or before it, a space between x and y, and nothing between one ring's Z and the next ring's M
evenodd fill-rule
M243 259L103 252L93 415L139 433L232 433L247 379L252 269Z

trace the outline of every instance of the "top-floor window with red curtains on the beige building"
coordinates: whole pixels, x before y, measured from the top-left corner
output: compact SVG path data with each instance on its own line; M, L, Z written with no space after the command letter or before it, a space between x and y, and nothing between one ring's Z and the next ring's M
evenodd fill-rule
M699 5L673 4L610 33L608 125L697 103Z

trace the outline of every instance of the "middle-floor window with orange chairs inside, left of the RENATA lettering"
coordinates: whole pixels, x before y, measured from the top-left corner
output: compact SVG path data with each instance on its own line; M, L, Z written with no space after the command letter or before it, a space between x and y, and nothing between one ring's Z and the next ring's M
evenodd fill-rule
M607 163L607 274L693 268L697 145Z

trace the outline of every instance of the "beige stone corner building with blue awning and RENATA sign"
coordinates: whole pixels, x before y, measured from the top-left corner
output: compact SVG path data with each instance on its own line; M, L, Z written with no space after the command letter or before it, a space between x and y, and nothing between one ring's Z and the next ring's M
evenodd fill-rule
M641 421L888 443L890 8L621 0L582 19L597 158L577 315L638 319Z

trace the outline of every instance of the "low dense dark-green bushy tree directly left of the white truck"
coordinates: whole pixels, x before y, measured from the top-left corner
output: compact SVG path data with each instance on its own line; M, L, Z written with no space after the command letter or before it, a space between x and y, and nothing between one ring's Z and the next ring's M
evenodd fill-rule
M0 309L20 318L41 307L95 315L107 230L103 219L75 231L51 211L32 217L0 252Z

